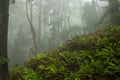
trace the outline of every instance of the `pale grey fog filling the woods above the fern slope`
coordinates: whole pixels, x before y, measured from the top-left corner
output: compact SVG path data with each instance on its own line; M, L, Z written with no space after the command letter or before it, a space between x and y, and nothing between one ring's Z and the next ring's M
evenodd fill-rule
M16 0L9 8L10 67L104 27L99 21L107 6L99 0Z

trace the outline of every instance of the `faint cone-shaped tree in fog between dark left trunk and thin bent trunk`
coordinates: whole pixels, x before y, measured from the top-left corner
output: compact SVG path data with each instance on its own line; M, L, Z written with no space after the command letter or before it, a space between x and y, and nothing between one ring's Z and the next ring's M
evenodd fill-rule
M14 40L13 49L12 49L11 57L13 58L11 59L11 63L13 63L13 65L10 65L10 66L14 66L15 64L21 64L24 62L24 60L30 57L30 53L31 53L29 51L29 49L31 48L30 40L31 38L28 32L26 32L25 27L20 25L15 35L15 40ZM26 53L29 53L29 54L26 54Z

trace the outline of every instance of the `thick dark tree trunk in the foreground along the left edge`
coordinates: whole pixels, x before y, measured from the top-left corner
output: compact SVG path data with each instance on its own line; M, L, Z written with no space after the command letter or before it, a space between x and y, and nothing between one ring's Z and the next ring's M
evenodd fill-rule
M7 57L9 0L0 0L0 57ZM0 78L9 80L8 63L0 64Z

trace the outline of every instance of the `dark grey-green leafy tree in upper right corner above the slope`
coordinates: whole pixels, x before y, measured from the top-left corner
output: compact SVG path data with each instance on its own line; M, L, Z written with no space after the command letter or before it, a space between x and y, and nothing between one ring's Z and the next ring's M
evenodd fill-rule
M120 4L119 0L100 0L108 1L108 9L104 13L100 23L106 25L120 25Z

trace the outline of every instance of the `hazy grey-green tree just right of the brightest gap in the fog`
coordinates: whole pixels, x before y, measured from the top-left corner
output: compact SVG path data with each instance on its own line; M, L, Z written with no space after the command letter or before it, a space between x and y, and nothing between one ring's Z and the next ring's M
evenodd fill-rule
M83 19L86 25L84 27L85 33L93 32L97 29L95 24L98 21L98 16L94 14L93 5L89 2L86 2L83 6Z

